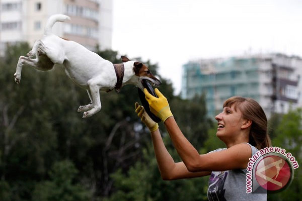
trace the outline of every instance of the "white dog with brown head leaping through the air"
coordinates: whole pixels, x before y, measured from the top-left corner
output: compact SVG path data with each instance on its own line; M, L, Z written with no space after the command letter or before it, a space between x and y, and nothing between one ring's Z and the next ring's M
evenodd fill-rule
M161 84L148 67L140 62L130 61L122 56L122 64L112 64L79 43L54 35L51 32L53 25L65 20L70 20L70 17L63 14L56 14L48 19L43 38L34 43L33 49L27 53L28 58L19 58L14 74L16 83L21 80L23 65L49 71L55 64L63 64L67 76L85 88L91 100L90 104L78 109L78 112L84 112L83 118L90 117L101 109L100 90L109 92L115 89L119 92L120 87L126 84L133 84L143 90L143 79L156 86Z

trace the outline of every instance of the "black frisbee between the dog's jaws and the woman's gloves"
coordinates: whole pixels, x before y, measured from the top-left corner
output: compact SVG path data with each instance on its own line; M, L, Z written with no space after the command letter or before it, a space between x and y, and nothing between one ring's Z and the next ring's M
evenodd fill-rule
M148 92L149 92L152 96L158 98L158 97L156 96L156 94L155 94L155 92L154 92L154 90L153 90L151 84L149 84L149 82L148 82L147 80L143 80L142 83L143 83L144 88L146 88L146 89L148 90ZM140 102L142 102L142 105L144 106L145 111L147 112L147 114L149 115L149 117L150 117L153 121L155 121L156 123L160 122L161 119L158 118L156 115L154 115L154 114L150 111L149 103L148 103L148 101L147 101L146 98L145 98L145 93L144 93L140 88L137 88L137 89L138 89L138 95L139 95L139 97L140 97Z

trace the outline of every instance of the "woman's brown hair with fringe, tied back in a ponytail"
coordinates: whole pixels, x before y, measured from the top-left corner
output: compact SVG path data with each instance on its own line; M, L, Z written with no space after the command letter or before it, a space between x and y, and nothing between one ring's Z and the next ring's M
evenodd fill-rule
M223 103L223 108L231 107L232 105L234 105L235 110L239 108L242 118L252 121L249 143L258 150L270 147L271 139L268 136L267 118L259 103L252 98L233 96Z

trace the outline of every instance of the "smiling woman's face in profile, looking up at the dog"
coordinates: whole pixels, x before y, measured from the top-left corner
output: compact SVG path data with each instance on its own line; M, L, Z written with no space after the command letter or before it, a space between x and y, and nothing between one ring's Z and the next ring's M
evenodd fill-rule
M235 110L234 104L231 107L224 107L215 119L218 121L216 135L221 140L226 139L225 137L231 139L240 133L243 122L242 113L238 108Z

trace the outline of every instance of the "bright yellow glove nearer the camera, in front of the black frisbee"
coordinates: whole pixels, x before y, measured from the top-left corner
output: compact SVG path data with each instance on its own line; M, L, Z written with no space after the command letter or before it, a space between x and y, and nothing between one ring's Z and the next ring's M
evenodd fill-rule
M157 88L154 91L158 98L152 96L148 90L144 89L146 100L149 103L150 111L165 122L168 117L173 116L169 103L166 97L163 96Z

